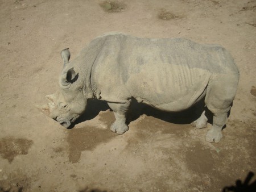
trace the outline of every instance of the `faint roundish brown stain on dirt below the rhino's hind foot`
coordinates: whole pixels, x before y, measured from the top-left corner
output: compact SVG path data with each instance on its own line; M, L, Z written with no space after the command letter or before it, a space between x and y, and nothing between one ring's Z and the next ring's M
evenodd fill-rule
M205 149L200 142L196 142L193 146L187 148L185 153L187 167L197 174L208 174L212 172L214 158L209 149Z

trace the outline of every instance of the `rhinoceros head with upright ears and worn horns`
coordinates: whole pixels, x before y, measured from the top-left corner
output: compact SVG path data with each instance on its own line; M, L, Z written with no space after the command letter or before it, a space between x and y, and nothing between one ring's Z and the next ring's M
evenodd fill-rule
M69 64L70 52L68 49L61 51L61 57L64 66L59 77L60 90L55 94L46 95L49 103L38 108L44 114L68 128L85 111L86 98L82 87L77 83L79 74Z

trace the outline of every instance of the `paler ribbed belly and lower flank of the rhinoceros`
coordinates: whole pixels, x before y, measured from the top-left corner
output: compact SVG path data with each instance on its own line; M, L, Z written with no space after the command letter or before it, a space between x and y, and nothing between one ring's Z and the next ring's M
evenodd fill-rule
M184 65L148 64L131 73L126 82L138 102L165 111L180 111L192 106L205 94L210 72Z

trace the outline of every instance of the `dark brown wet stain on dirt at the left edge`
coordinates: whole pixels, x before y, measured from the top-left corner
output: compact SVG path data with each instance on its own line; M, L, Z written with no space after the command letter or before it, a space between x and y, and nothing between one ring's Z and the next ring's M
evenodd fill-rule
M5 137L0 140L0 154L2 158L6 158L11 162L17 155L27 155L28 149L32 144L32 140Z

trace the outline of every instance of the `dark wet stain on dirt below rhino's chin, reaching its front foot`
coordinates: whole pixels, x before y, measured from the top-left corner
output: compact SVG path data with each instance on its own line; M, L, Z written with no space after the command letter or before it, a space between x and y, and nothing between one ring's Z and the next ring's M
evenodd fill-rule
M106 143L117 133L110 131L110 125L114 122L113 112L105 112L100 115L100 119L104 119L104 123L108 124L108 129L101 130L96 127L73 128L68 132L69 143L69 161L78 162L82 151L92 151L98 144Z

